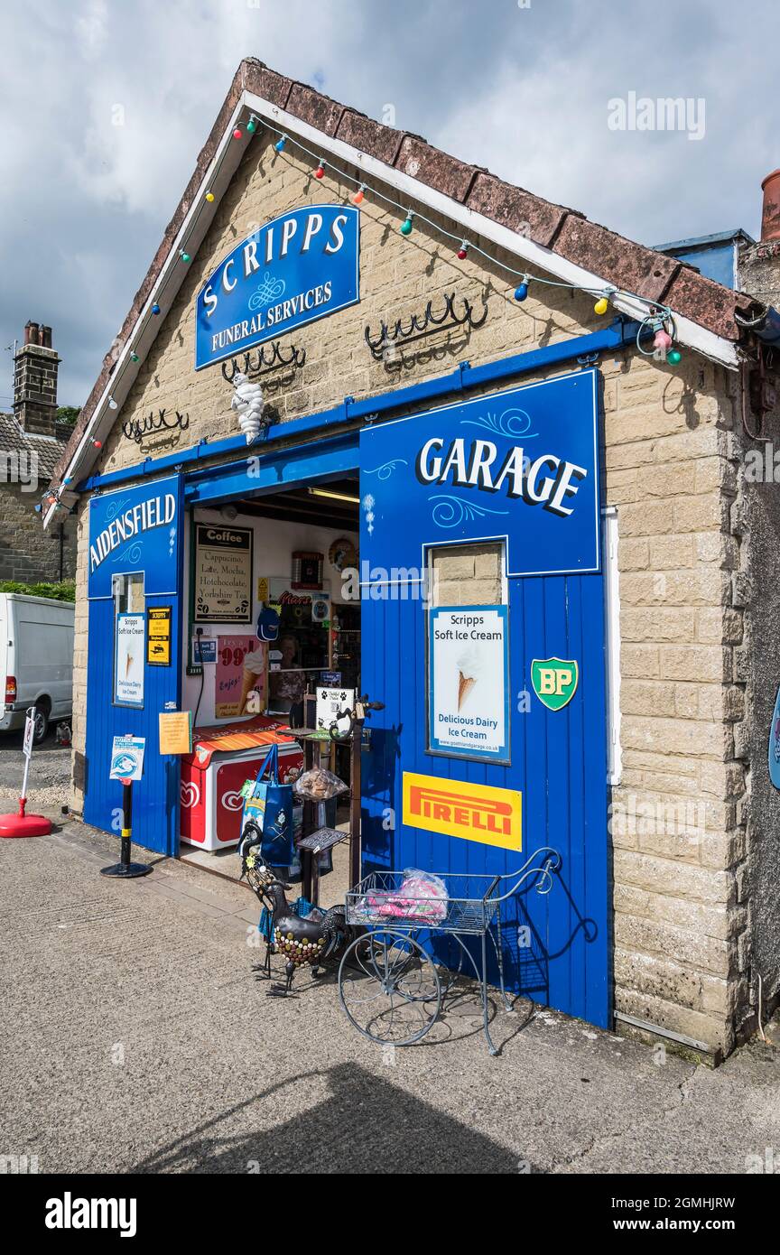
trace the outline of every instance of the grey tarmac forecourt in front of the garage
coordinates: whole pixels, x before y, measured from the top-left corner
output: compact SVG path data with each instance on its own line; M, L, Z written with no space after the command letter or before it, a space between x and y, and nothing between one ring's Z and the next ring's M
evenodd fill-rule
M174 861L102 877L115 857L76 823L0 841L0 1152L40 1172L780 1168L771 1045L711 1071L519 1003L494 1059L466 1001L382 1053L330 976L266 996L246 889Z

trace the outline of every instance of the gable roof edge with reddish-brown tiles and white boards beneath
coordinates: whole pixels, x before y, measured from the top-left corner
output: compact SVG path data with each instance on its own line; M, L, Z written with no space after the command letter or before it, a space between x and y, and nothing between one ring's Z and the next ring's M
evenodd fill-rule
M178 260L183 238L194 256L206 235L245 151L242 143L231 141L232 128L242 110L250 109L261 122L270 122L280 132L300 134L307 143L322 144L359 172L391 182L410 200L421 200L466 231L470 227L474 235L487 235L574 287L618 289L614 306L631 318L645 316L645 302L662 304L673 311L682 344L727 366L737 365L736 345L745 333L735 315L751 305L745 294L706 279L680 259L627 240L576 210L507 183L482 167L434 148L420 136L375 122L248 58L233 77L152 265L112 350L103 359L103 369L54 469L55 488L65 474L69 482L83 478L99 456L97 447L90 448L89 434L103 430L99 424L105 419L109 385L114 400L122 404L135 373L128 361L130 340L135 336L137 345L145 336L143 344L148 348L162 325L162 318L147 318L144 323L144 315L153 300L158 300L163 314L169 307L183 279L182 267L178 280L171 279L172 261ZM213 203L203 201L206 190L214 193ZM157 294L166 290L168 299L163 304ZM115 407L112 410L115 418ZM65 491L66 498L71 496Z

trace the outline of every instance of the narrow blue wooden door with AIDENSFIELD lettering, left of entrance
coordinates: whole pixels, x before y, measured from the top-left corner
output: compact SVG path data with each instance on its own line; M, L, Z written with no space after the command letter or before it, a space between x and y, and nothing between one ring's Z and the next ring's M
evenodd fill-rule
M133 841L164 855L178 853L179 840L179 759L159 753L158 715L179 709L182 675L182 483L166 481L176 496L176 515L164 532L162 548L153 548L147 537L128 540L107 557L110 575L143 572L145 587L164 587L166 592L145 592L144 610L171 606L171 663L149 665L144 649L143 707L115 705L114 693L114 619L110 596L89 601L89 644L87 668L87 747L84 818L105 832L119 835L122 784L109 779L112 742L115 735L145 738L143 778L133 784ZM147 496L152 488L147 488ZM112 494L110 518L137 502L134 489ZM105 498L102 505L104 505ZM98 527L100 523L98 523ZM158 537L155 537L158 540ZM162 553L162 558L161 558ZM148 565L145 565L148 563ZM103 572L102 572L103 574ZM100 586L104 591L108 584ZM168 591L169 590L169 591Z

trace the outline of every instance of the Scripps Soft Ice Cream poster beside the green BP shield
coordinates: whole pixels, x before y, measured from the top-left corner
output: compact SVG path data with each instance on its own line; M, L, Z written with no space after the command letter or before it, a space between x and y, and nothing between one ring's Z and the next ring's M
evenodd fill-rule
M429 749L507 761L507 607L430 611Z

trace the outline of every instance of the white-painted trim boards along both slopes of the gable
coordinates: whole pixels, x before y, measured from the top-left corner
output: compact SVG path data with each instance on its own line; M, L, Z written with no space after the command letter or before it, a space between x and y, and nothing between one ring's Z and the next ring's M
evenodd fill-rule
M566 257L561 257L549 248L544 248L542 245L534 243L533 240L525 238L525 236L518 235L515 231L510 231L509 227L503 227L500 223L494 222L492 218L484 217L482 213L477 213L474 210L469 210L465 205L460 205L449 196L444 196L443 192L436 192L433 187L426 187L425 183L419 182L410 174L405 174L403 171L395 169L393 166L386 166L384 162L379 161L376 157L370 157L366 153L360 152L351 144L345 143L342 139L334 139L330 136L325 136L316 127L312 127L307 122L302 122L296 118L295 114L287 113L285 109L280 109L278 105L272 104L270 100L263 99L260 95L255 95L253 92L242 92L241 98L236 103L231 119L226 127L226 131L217 146L217 151L206 171L201 186L196 190L192 203L188 212L184 215L184 220L179 228L179 232L171 246L168 257L166 259L161 274L149 292L149 296L142 307L138 319L128 336L128 343L125 344L123 351L117 359L115 366L123 365L125 359L129 356L130 345L133 348L140 346L143 350L148 351L154 339L157 338L157 331L152 329L149 335L149 325L147 325L147 331L143 341L135 341L135 334L138 325L143 321L148 311L150 311L152 305L158 300L159 291L164 287L164 299L159 300L161 305L161 324L166 318L166 314L171 309L173 299L178 292L181 281L184 279L187 269L181 265L178 250L181 242L188 235L188 228L192 220L197 213L198 227L197 232L191 235L187 240L188 250L194 257L203 236L208 226L212 222L214 213L219 207L222 200L222 193L228 187L231 178L238 167L241 158L246 151L246 146L250 142L245 136L243 141L235 141L232 132L236 127L238 118L245 113L245 110L251 110L256 113L262 120L263 118L272 120L278 125L280 129L290 132L291 137L298 134L302 139L308 141L312 146L322 152L325 156L330 153L332 157L337 157L347 164L355 166L357 169L362 171L366 176L366 182L371 178L376 178L380 182L395 188L399 193L408 196L410 201L416 201L421 205L426 205L430 210L436 213L441 213L444 217L449 218L451 222L456 222L464 228L464 233L480 235L485 240L490 240L493 243L498 245L500 248L505 248L508 252L514 254L514 256L520 257L523 261L530 265L538 266L540 270L545 270L548 274L554 275L561 282L571 284L573 287L583 287L593 291L603 291L609 294L613 285L599 275L594 275L592 271L583 270L581 266L576 266L573 262L567 261ZM295 143L295 139L292 139ZM233 146L235 149L235 162L229 159L222 164L219 169L218 183L211 182L211 176L219 164L224 151ZM214 191L214 201L211 206L208 202L203 201L203 193L208 188ZM211 212L209 212L211 211ZM171 270L176 266L181 266L181 280L179 282L166 282ZM611 296L612 305L632 319L642 319L647 312L646 305L636 300L632 296L619 295ZM672 311L673 312L673 311ZM681 344L687 348L701 353L704 356L710 358L712 361L719 361L729 369L736 369L739 366L739 356L736 345L730 340L725 340L722 336L715 335L714 331L709 331L698 324L692 323L690 319L682 318L677 314L675 316L677 339ZM95 405L94 413L84 430L79 444L74 454L68 463L65 469L65 476L73 479L80 478L78 473L78 467L82 461L82 456L88 452L90 442L95 435L103 432L104 422L107 414L110 414L110 424L107 424L107 432L113 427L118 418L119 410L122 409L123 402L127 399L127 394L135 380L138 374L137 366L140 363L129 363L124 366L122 371L120 385L108 385L98 404ZM118 409L109 409L108 398L109 394L114 397L118 404ZM59 491L58 491L59 497ZM44 515L44 527L48 527L50 520L54 516L55 507L51 506Z

